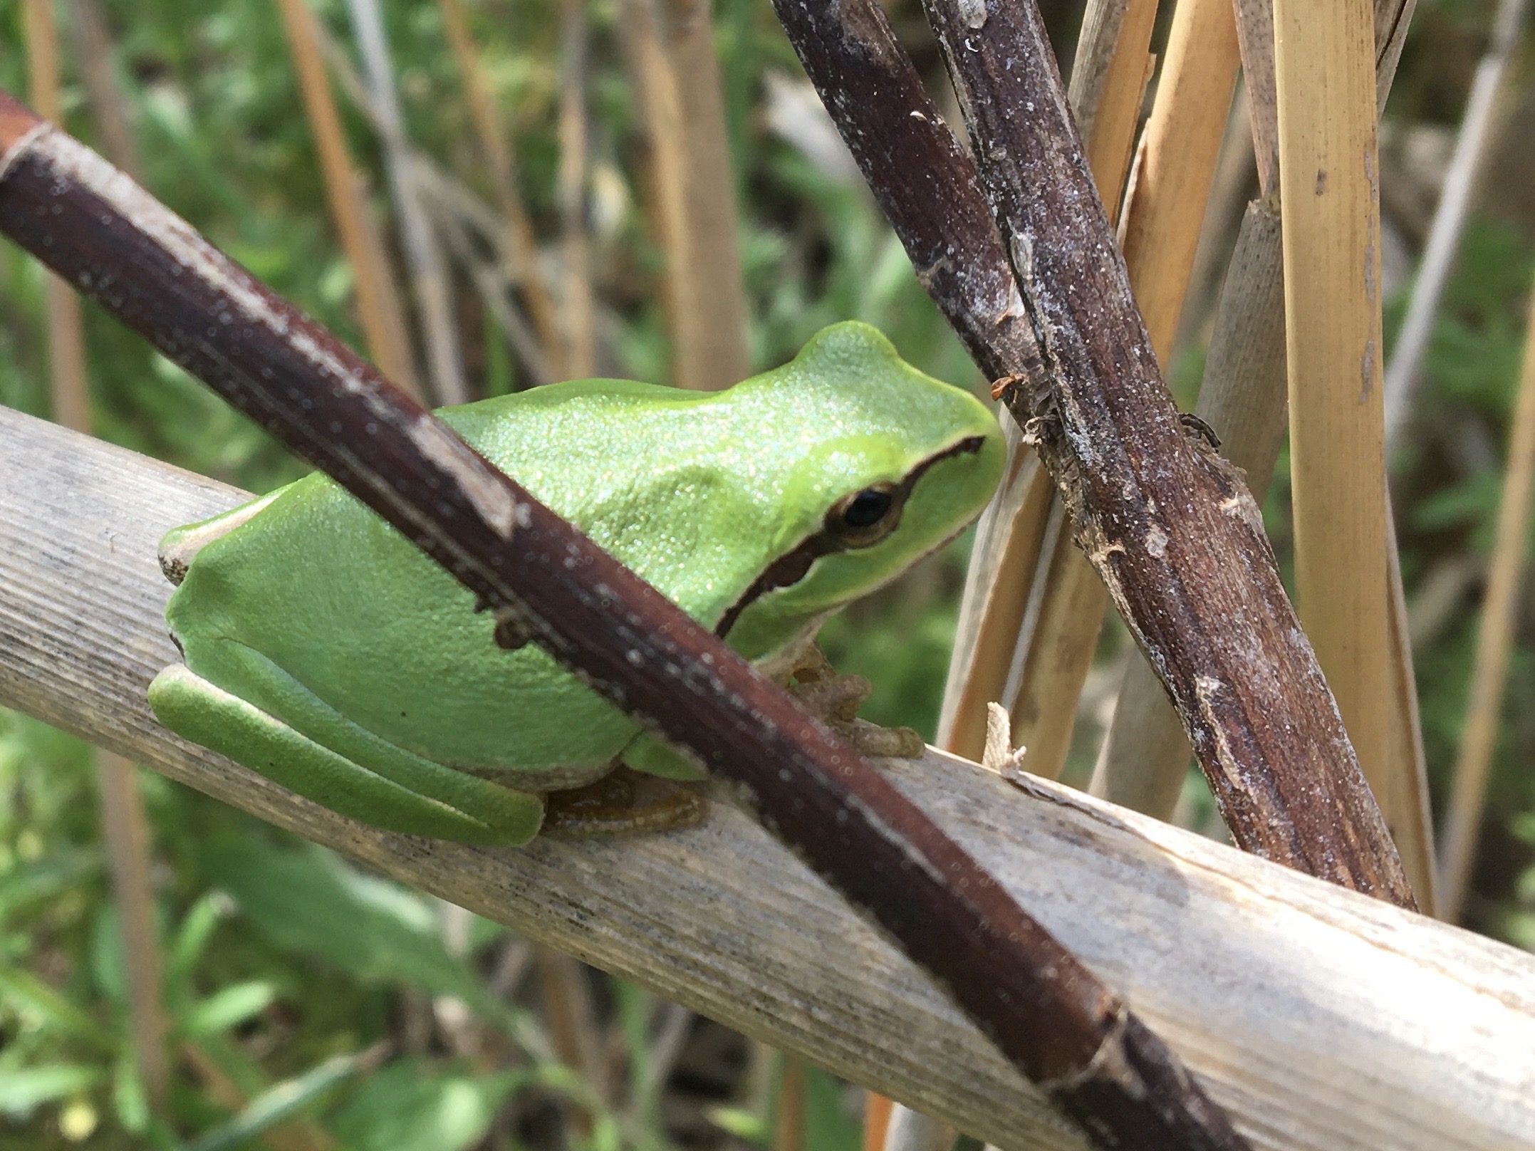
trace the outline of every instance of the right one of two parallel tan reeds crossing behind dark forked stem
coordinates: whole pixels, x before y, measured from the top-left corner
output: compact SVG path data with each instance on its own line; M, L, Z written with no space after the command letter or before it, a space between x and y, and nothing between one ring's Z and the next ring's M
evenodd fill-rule
M1179 0L1151 118L1131 169L1121 249L1136 304L1167 371L1188 292L1205 203L1220 158L1237 66L1230 0ZM1045 569L1045 592L1012 706L1015 738L1028 770L1058 778L1076 726L1076 704L1093 666L1108 591L1067 536Z

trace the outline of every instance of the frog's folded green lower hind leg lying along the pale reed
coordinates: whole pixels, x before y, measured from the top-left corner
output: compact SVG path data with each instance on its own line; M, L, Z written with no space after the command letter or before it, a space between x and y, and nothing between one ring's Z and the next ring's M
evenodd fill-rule
M355 763L295 731L183 665L166 668L149 684L149 704L172 731L243 763L273 783L375 827L457 843L522 844L543 820L537 795L477 780L421 760L425 772L394 778ZM408 755L408 754L402 754ZM418 758L418 757L410 757ZM436 773L457 777L442 787ZM411 775L425 777L411 780ZM424 793L414 784L425 783ZM451 800L442 798L442 793Z

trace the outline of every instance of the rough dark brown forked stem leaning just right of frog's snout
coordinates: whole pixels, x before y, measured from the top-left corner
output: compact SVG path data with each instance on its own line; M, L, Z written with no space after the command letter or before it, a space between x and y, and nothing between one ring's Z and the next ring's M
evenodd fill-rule
M978 173L875 0L775 0L918 269L1016 276L1028 344L924 282L1056 477L1078 543L1157 668L1245 850L1411 907L1412 893L1240 474L1185 434L1130 292L1033 0L929 3ZM918 157L927 158L926 166ZM942 295L941 295L942 290ZM1001 296L1001 289L993 289ZM956 315L958 313L958 315Z

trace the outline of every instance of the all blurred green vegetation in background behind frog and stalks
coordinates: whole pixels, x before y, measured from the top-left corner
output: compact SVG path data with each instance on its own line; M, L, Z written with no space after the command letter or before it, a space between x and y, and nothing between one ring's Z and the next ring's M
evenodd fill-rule
M892 15L929 69L912 0ZM1045 3L1070 58L1079 3ZM353 272L327 210L276 5L103 0L111 72L143 181L281 293L362 345ZM342 0L313 11L355 61ZM585 226L603 374L665 381L662 250L632 77L614 0L586 5L591 58ZM100 143L84 64L60 5L64 118ZM1420 0L1386 112L1382 187L1388 328L1424 239L1454 124L1490 25L1481 0ZM494 203L441 9L388 5L407 135ZM514 143L517 190L534 235L560 230L559 6L484 0L470 8L480 78ZM738 247L755 368L784 361L826 322L860 318L927 371L979 385L929 304L900 244L844 157L763 0L714 11ZM0 86L25 94L21 5L0 2ZM353 63L353 66L358 66ZM1518 69L1517 69L1518 74ZM1521 83L1510 86L1523 92ZM338 84L381 235L393 244L384 150ZM1510 95L1481 181L1478 213L1431 344L1424 396L1392 486L1435 800L1448 790L1466 711L1484 556L1524 341L1535 187L1535 100ZM1240 189L1239 189L1240 192ZM1245 192L1234 198L1240 206ZM1230 204L1225 210L1230 210ZM1217 203L1214 210L1220 210ZM1222 275L1220 221L1207 229L1207 282L1185 315L1174 385L1199 378L1208 301ZM1225 241L1222 241L1225 236ZM391 252L399 262L401 253ZM470 262L456 262L454 327L474 394L522 387ZM557 262L553 252L545 261ZM0 402L48 414L48 339L38 267L0 249ZM513 307L523 293L505 295ZM266 491L301 473L247 420L92 308L84 315L97 434ZM3 465L0 465L3 467ZM1285 462L1269 497L1288 540ZM3 471L0 471L3 476ZM834 661L875 681L869 718L932 734L964 546L936 557L826 629ZM1471 925L1535 947L1535 649L1521 606ZM1122 631L1101 641L1068 780L1084 781L1111 701ZM350 864L143 772L154 832L154 899L173 1064L150 1108L132 1056L118 907L100 841L87 749L0 712L0 1146L252 1145L421 1151L471 1146L637 1148L757 1143L792 1151L857 1145L858 1096L789 1067L725 1028L599 973L560 964L505 928L359 873ZM1197 787L1190 789L1197 796ZM1197 798L1187 816L1210 824ZM780 1122L781 1119L781 1122Z

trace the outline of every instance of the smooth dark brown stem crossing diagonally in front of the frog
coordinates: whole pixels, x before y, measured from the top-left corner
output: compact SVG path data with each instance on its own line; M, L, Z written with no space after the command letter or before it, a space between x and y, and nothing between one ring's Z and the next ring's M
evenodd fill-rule
M127 176L0 95L0 230L735 781L1099 1146L1243 1148L1182 1064L936 824L709 631Z

